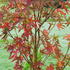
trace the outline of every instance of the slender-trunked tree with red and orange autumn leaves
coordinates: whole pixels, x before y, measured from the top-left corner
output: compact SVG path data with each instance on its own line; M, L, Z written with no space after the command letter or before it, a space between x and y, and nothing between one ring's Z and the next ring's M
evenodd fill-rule
M70 3L63 0L9 0L7 5L1 7L0 36L3 40L8 37L13 40L7 43L6 48L10 52L9 58L15 62L14 70L24 69L23 62L30 65L30 70L42 70L45 59L50 56L56 59L56 64L46 66L46 70L64 70L70 60L70 35L64 37L69 44L66 54L63 54L58 37L50 37L50 32L55 26L58 30L69 26L70 22L66 20L68 7ZM49 19L58 23L45 23ZM66 23L62 22L64 19ZM41 29L43 24L48 24L47 29ZM16 36L12 34L13 30Z

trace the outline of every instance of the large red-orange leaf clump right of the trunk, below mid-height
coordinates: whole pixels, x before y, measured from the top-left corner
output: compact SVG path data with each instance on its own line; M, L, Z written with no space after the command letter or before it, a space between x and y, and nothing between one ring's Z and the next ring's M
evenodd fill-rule
M42 49L41 52L44 54L47 54L47 55L55 54L55 57L57 59L59 59L61 56L61 52L60 52L59 48L57 46L50 44L50 42L48 42L48 41L45 44L45 48Z

